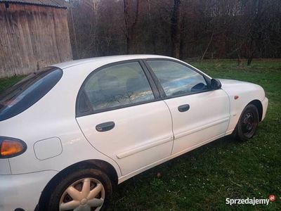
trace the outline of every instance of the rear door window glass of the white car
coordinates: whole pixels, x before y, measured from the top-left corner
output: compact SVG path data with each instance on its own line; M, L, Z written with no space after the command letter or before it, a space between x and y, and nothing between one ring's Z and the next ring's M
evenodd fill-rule
M138 62L113 65L99 70L86 81L82 95L86 95L94 111L155 99ZM85 97L81 98L82 101L84 99ZM81 107L83 106L79 106Z

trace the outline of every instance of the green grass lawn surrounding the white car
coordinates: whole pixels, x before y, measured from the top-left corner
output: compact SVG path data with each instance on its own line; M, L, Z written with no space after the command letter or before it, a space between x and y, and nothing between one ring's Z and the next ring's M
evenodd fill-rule
M247 142L218 139L120 184L111 210L281 210L281 60L190 61L211 77L260 84L266 119ZM20 77L0 79L0 91ZM157 177L158 176L158 177ZM226 205L226 198L268 198L270 205Z

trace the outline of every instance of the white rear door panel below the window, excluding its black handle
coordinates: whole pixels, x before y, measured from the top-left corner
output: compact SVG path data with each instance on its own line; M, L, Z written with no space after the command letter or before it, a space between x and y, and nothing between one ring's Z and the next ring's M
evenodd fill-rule
M122 175L171 155L171 115L163 101L77 117L77 122L91 145L118 163ZM98 132L96 125L103 122L115 127Z

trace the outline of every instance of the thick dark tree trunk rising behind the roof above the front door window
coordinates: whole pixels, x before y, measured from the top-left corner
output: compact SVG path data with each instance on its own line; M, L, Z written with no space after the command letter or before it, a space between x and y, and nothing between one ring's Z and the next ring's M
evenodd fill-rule
M180 58L181 27L180 27L181 0L174 0L174 9L171 15L171 55Z

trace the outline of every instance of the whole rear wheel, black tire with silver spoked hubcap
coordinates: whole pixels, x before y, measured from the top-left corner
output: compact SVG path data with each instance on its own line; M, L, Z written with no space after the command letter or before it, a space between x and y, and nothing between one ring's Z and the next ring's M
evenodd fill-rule
M112 184L105 173L79 169L58 183L46 210L104 210L112 195Z

